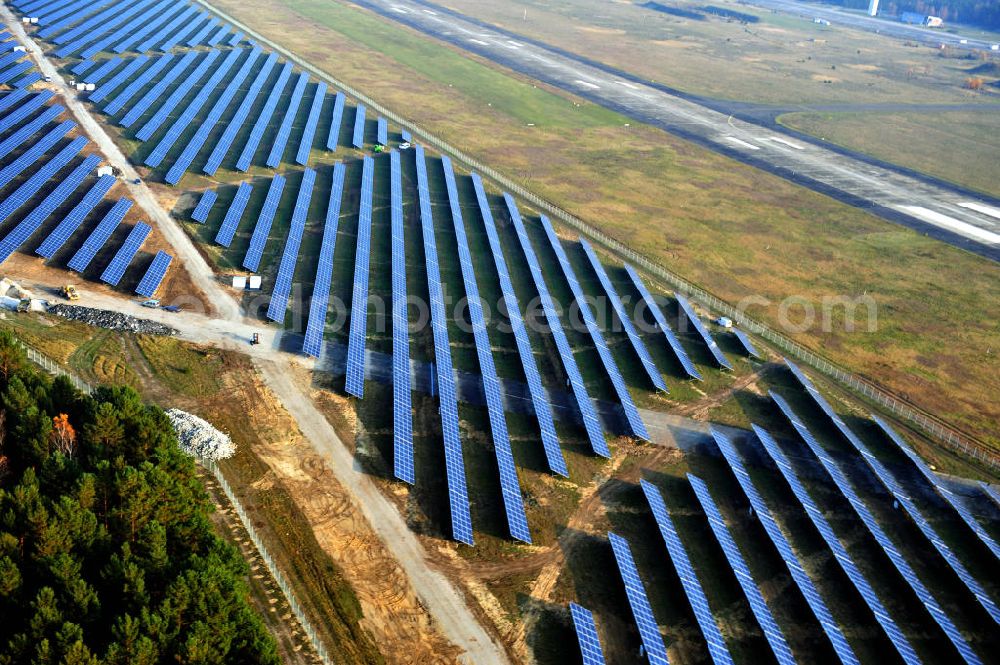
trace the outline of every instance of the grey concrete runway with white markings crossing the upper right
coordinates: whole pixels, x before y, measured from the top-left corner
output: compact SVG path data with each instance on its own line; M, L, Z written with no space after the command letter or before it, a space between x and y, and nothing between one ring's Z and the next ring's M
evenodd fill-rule
M720 112L422 0L355 0L387 18L741 162L1000 261L1000 204L933 178Z

